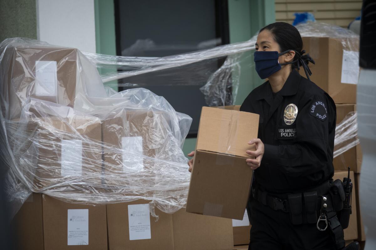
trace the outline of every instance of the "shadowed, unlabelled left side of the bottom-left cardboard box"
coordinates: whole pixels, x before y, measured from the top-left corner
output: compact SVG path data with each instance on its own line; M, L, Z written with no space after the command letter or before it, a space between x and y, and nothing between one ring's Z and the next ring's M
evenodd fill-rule
M13 218L11 228L14 237L14 249L44 249L42 195L40 193L32 193L24 202Z

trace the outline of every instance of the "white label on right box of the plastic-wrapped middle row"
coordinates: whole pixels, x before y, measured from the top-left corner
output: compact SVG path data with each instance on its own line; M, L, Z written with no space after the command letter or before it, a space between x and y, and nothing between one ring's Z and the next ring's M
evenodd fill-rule
M121 138L123 148L123 171L138 172L144 169L143 138L141 136Z

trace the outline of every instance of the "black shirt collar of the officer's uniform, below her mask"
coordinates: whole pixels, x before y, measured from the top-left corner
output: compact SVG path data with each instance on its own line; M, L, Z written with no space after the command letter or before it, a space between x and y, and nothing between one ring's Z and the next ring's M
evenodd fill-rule
M293 70L290 75L288 76L284 86L278 92L281 96L292 96L297 93L299 82L300 82L300 75L296 70ZM258 97L256 100L261 99L268 99L272 96L272 90L269 81L265 82L258 91Z

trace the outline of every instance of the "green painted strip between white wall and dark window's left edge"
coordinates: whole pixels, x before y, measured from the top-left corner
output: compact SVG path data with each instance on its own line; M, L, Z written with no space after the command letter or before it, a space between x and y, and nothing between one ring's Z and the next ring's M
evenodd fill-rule
M114 0L94 0L96 50L99 54L116 55ZM99 69L100 74L112 72ZM117 81L106 84L116 85ZM112 87L118 91L118 87Z

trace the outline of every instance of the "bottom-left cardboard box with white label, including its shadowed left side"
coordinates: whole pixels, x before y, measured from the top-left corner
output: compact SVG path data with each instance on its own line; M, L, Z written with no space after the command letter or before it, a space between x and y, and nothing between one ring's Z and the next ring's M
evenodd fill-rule
M15 249L107 249L106 206L33 193L12 221Z

